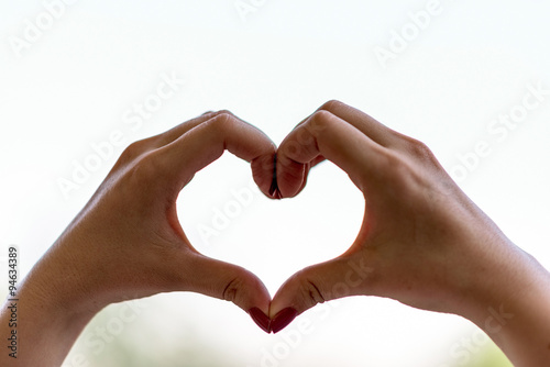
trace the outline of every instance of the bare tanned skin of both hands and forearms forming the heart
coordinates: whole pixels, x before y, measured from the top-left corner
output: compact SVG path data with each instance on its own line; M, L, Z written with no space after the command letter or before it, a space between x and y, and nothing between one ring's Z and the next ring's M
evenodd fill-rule
M272 198L298 194L311 167L333 162L364 193L354 243L295 274L273 300L250 271L199 254L175 203L195 173L224 149L251 163ZM169 291L226 299L246 312L257 308L272 319L270 327L292 321L277 322L285 309L299 314L346 296L388 297L471 320L517 366L550 362L549 273L499 231L424 144L338 101L304 120L278 149L227 111L132 144L18 288L25 321L18 327L20 357L3 353L0 365L58 366L103 307ZM4 305L2 335L8 320Z

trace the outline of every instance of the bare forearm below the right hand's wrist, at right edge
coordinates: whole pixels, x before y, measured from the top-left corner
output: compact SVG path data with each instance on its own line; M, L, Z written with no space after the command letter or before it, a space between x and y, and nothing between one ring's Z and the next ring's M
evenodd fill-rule
M521 254L498 282L479 300L470 318L503 349L515 366L550 364L550 275L532 257ZM495 276L496 277L496 276ZM498 285L498 286L496 286Z

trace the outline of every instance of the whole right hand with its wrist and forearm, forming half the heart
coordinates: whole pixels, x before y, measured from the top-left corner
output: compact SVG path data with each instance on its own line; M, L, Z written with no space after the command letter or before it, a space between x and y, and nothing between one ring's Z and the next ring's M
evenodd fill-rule
M422 143L328 102L280 144L279 196L300 192L309 168L323 158L364 193L363 224L344 254L296 273L280 287L271 305L272 331L319 302L380 296L463 315L515 363L550 360L550 326L539 327L541 318L550 325L548 271L506 238ZM514 315L501 333L490 330L495 325L486 322L488 308Z

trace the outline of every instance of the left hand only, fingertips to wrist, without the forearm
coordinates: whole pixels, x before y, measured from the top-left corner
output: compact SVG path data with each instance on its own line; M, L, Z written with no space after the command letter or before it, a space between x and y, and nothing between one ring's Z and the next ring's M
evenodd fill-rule
M177 219L179 191L224 149L251 162L255 181L268 191L275 145L229 112L206 113L130 145L50 252L65 263L59 273L78 274L80 286L67 294L69 302L106 305L193 291L267 313L263 282L198 253Z

